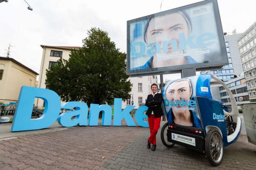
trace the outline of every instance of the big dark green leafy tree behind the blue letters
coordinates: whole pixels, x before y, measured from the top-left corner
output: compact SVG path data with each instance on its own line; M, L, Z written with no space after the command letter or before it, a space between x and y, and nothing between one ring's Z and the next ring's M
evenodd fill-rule
M72 50L68 60L60 58L46 71L47 87L63 101L110 104L114 97L129 99L126 54L115 47L107 32L92 28L87 34L81 49Z

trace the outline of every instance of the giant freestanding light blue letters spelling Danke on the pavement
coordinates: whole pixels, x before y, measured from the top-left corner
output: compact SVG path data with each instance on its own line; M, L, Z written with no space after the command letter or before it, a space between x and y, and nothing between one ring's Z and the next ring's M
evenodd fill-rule
M36 97L45 101L45 110L40 118L31 119L33 104ZM115 98L113 126L121 126L122 119L125 119L127 126L136 126L130 115L130 112L134 107L135 106L127 106L122 110L122 99ZM76 110L60 114L61 108L76 108ZM144 118L147 118L147 116L143 114L146 110L147 107L142 106L139 107L135 113L136 122L143 127L149 127L148 122L144 120ZM11 131L43 129L52 125L56 119L58 119L60 125L65 127L76 125L98 126L100 111L102 111L102 125L111 126L112 108L107 104L90 104L88 119L88 106L86 103L70 101L61 105L60 97L53 90L22 86ZM75 119L71 119L72 117L75 117Z

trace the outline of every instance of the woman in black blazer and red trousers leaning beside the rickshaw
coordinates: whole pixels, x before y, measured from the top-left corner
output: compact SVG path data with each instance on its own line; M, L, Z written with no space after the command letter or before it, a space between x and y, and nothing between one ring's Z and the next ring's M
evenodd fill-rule
M148 107L146 115L149 121L150 137L147 140L147 148L151 150L156 150L156 134L160 127L161 116L163 116L163 110L161 104L163 101L163 95L157 92L157 84L151 85L151 90L153 94L147 96L146 106Z

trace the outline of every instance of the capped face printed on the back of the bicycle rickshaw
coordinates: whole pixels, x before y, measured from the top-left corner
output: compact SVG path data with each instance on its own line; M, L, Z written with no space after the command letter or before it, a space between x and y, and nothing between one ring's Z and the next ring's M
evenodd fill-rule
M170 84L166 89L166 99L168 101L189 101L192 94L191 86L189 80L178 81ZM181 106L179 106L181 107ZM178 112L184 112L184 110L177 110Z

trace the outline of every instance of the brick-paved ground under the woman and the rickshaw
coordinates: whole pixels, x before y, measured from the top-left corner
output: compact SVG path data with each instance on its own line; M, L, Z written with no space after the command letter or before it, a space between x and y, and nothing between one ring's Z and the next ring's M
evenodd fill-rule
M163 123L162 123L163 125ZM71 127L0 141L0 169L246 169L256 167L256 146L246 136L224 148L223 162L213 167L205 155L175 145L166 148L157 134L157 149L146 148L143 127Z

